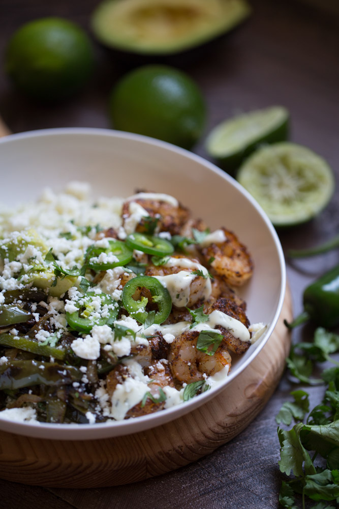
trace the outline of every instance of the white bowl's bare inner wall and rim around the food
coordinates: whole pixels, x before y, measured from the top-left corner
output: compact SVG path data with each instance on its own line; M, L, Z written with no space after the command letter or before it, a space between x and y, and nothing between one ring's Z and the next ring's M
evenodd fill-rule
M33 200L45 187L60 191L70 180L87 181L95 196L129 196L136 188L165 192L188 206L211 229L225 226L248 246L254 276L239 292L251 323L268 325L222 385L157 413L101 424L10 422L0 430L57 440L128 435L159 426L206 403L248 366L268 341L284 300L286 269L278 236L266 214L235 180L201 157L159 140L108 129L66 128L0 139L2 202Z

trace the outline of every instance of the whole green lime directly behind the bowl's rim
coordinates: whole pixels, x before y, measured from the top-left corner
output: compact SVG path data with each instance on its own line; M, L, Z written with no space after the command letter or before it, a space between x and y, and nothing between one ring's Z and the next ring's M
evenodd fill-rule
M190 149L202 134L205 102L196 83L172 67L149 65L124 76L110 97L115 129Z

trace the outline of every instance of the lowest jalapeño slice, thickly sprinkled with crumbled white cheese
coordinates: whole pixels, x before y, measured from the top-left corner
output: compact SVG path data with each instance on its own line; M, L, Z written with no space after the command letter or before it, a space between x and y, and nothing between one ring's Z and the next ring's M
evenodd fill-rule
M100 309L96 312L98 299ZM66 320L68 325L78 332L90 332L95 325L111 325L118 314L116 302L106 293L98 295L94 292L88 292L74 305L78 310L74 313L66 313ZM106 308L106 305L108 308ZM104 316L101 316L101 314Z

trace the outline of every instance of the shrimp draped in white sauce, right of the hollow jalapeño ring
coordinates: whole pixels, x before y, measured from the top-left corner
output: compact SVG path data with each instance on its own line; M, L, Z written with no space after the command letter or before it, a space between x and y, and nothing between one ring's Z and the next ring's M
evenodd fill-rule
M166 285L176 307L191 307L199 301L207 300L211 293L208 272L194 258L171 257L165 265L149 265L145 274L157 277ZM177 277L172 277L174 274Z

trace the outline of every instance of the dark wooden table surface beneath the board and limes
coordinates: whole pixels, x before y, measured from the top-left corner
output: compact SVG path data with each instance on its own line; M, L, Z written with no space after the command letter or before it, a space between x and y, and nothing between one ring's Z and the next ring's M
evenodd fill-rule
M37 17L68 17L88 28L95 0L0 0L0 53L11 33ZM291 138L309 146L331 164L339 178L339 20L289 0L255 0L251 19L209 48L185 70L199 83L208 104L206 132L234 112L283 104L292 115ZM109 127L107 97L127 67L97 47L95 78L72 101L57 106L33 104L10 87L0 71L0 112L13 132L48 127ZM203 144L196 147L206 157ZM4 169L2 169L4 171ZM301 227L279 232L284 250L311 246L339 231L339 188L327 209ZM303 288L338 263L338 251L287 262L295 314ZM293 341L312 336L304 327ZM25 509L157 508L267 509L278 506L282 480L275 414L293 386L284 376L262 413L228 444L210 456L143 483L90 490L45 489L0 480L0 507ZM322 388L309 388L311 402Z

